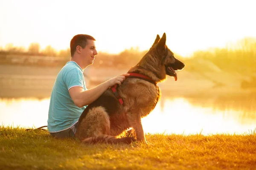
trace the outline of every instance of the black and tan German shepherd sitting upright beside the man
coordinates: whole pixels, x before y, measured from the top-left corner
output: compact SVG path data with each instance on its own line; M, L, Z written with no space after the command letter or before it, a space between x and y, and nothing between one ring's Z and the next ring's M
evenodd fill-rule
M147 54L128 71L147 78L127 77L117 86L116 91L123 103L111 88L105 91L83 111L75 136L85 143L131 143L136 141L134 137L116 136L132 127L137 141L147 143L141 118L147 116L157 104L160 97L157 83L165 80L166 75L177 80L176 71L184 67L185 64L176 59L166 46L166 34L161 39L157 35Z

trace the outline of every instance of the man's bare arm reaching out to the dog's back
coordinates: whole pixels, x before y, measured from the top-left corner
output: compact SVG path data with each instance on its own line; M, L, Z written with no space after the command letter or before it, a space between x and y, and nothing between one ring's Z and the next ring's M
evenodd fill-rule
M125 80L125 76L129 76L129 74L121 74L120 76L116 76L112 79L109 79L108 81L103 82L102 84L97 85L96 87L86 91L84 91L84 88L76 86L70 88L69 93L75 105L81 108L85 105L89 105L90 103L94 102L109 87L116 84L121 85L121 83Z

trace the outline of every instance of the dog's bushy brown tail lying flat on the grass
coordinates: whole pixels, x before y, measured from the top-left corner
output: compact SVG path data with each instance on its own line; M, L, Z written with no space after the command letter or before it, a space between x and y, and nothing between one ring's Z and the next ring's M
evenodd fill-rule
M123 137L123 138L116 138L115 136L110 135L99 135L96 137L90 137L81 140L84 143L126 143L131 144L131 142L135 142L136 139L133 137Z

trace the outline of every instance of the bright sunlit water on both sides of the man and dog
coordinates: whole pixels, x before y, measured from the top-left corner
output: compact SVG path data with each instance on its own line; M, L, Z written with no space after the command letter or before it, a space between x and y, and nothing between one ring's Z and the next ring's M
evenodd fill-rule
M255 130L254 101L245 101L247 105L227 103L203 105L184 98L165 99L142 119L143 129L145 133L186 135L245 134ZM0 124L25 128L47 125L48 109L49 99L0 99Z

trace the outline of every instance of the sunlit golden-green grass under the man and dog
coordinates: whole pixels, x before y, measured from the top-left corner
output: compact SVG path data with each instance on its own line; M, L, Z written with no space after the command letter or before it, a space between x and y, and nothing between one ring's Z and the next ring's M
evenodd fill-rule
M244 135L146 135L148 145L82 144L46 130L0 126L2 170L256 169L256 132Z

